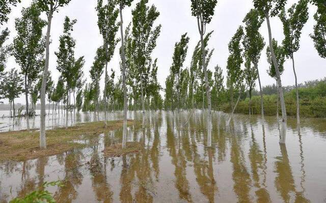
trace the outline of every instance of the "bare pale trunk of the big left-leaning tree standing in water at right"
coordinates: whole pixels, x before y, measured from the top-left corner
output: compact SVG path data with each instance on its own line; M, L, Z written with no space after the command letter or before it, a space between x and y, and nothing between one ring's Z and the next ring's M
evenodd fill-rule
M279 66L277 64L277 60L276 60L274 49L273 49L273 42L272 42L272 37L271 37L271 29L270 29L270 23L269 23L269 16L268 16L267 13L265 13L265 17L266 17L267 28L268 28L270 55L271 55L271 59L273 60L273 64L274 64L274 67L275 67L275 72L276 72L276 77L277 77L277 83L278 83L279 92L280 92L280 101L281 101L281 110L282 110L282 130L281 130L280 143L285 143L285 136L286 136L286 109L285 109L284 94L283 94L283 88L282 88L282 82L281 82L281 75L280 75ZM285 130L283 130L283 128L285 128Z

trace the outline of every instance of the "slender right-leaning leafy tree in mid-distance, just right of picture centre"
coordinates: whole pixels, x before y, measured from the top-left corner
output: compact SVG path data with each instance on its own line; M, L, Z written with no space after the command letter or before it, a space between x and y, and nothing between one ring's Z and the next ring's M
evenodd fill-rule
M184 33L181 36L180 42L175 43L174 53L172 57L173 62L170 67L170 72L173 75L173 78L175 79L174 86L177 92L178 111L180 108L180 86L181 86L180 77L182 73L183 62L187 55L188 42L189 42L189 37L187 37L187 33Z

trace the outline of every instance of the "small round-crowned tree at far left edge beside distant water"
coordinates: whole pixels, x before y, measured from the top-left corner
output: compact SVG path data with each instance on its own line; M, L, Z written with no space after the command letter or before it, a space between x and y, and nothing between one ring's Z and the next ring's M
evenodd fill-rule
M9 99L9 102L13 104L14 118L15 118L15 98L19 97L23 91L23 78L19 75L16 69L11 69L6 72L1 89L4 91L4 95Z

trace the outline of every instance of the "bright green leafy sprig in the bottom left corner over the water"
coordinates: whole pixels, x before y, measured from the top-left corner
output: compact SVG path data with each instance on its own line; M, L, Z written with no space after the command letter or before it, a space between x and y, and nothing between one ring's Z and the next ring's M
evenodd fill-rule
M47 188L49 186L63 187L60 181L45 182L42 184L42 188ZM14 198L10 203L37 203L37 202L47 202L55 203L56 200L52 197L52 193L47 190L36 190L24 196L23 198Z

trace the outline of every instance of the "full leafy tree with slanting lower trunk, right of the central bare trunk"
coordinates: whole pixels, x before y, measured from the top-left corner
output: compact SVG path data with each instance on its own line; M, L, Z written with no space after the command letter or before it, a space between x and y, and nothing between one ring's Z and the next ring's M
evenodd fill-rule
M228 85L230 87L230 93L231 93L231 110L232 113L229 117L228 124L231 121L231 118L233 116L233 112L238 104L238 101L240 99L241 91L243 90L243 71L241 70L241 64L243 62L242 59L242 48L241 48L241 40L243 39L243 27L239 26L239 28L236 30L234 36L231 38L231 41L229 42L229 52L230 55L227 60L227 71L228 71ZM233 92L238 91L238 99L233 107Z

